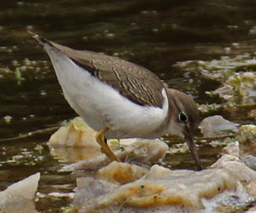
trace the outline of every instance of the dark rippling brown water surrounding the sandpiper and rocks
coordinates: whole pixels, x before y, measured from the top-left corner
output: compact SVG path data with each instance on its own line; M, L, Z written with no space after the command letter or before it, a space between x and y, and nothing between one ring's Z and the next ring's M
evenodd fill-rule
M145 66L170 87L194 95L198 103L224 103L206 95L206 91L218 88L218 82L173 65L253 52L255 9L253 0L1 1L0 139L56 126L76 116L61 95L48 56L27 30L74 49L118 55ZM232 43L239 43L240 48L226 53ZM231 113L218 114L237 121ZM241 124L252 122L242 114L238 120ZM72 192L75 176L58 171L62 164L46 145L50 133L1 141L0 190L40 171L40 193ZM218 158L219 150L200 147L205 166ZM194 169L189 153L168 160L173 168ZM46 196L39 199L37 209L58 211L69 201Z

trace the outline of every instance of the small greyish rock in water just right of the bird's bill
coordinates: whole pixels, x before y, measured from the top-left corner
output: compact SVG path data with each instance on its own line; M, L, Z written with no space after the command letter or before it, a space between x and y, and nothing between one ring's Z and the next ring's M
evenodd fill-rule
M236 131L239 124L230 122L220 115L204 118L199 126L204 137L223 137Z

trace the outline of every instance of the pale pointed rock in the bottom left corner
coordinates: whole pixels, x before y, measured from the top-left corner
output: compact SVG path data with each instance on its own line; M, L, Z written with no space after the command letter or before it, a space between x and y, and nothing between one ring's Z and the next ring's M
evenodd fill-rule
M38 212L33 200L39 179L40 173L37 173L0 192L0 209L9 213Z

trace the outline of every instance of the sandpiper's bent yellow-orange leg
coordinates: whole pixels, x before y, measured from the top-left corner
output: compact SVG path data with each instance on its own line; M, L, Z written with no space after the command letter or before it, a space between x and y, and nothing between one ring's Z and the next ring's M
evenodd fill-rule
M109 127L105 127L103 130L96 134L96 141L102 147L102 153L106 154L110 160L116 160L120 162L120 159L113 153L113 151L108 147L107 140L104 140L104 135L108 132Z

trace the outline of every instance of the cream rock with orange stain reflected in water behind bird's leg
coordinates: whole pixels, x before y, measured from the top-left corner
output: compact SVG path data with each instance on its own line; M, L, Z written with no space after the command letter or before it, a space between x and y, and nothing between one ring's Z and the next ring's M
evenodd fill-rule
M62 126L49 138L50 153L60 162L73 163L83 159L96 158L101 147L96 142L96 131L80 117Z

